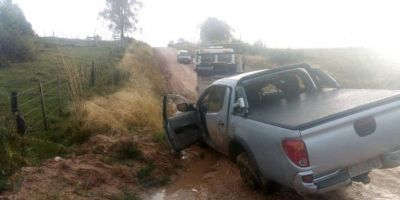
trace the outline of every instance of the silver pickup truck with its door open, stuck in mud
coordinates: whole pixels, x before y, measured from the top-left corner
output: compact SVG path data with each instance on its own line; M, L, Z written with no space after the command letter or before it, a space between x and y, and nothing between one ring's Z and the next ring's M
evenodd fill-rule
M202 141L229 156L243 181L323 193L400 165L400 91L345 89L306 64L220 79L164 127L175 152Z

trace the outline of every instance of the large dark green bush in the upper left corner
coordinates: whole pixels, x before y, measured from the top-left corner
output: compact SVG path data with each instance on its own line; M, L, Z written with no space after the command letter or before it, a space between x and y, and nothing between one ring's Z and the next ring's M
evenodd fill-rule
M0 66L32 60L34 49L35 34L22 10L10 0L0 0Z

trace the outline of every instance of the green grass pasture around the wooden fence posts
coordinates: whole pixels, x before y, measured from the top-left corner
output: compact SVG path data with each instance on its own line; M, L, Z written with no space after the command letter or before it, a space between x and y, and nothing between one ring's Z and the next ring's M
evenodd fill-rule
M111 53L111 55L110 55ZM123 51L115 50L113 42L100 42L89 46L84 40L39 38L36 59L30 62L10 63L0 68L0 191L7 189L5 177L23 165L39 165L54 156L67 156L71 147L86 141L87 133L74 130L69 114L67 78L61 55L72 62L80 73L84 98L115 91L111 85L113 73ZM95 62L97 80L89 86L88 78L92 62ZM61 105L57 76L61 77ZM39 82L43 84L49 130L44 130L39 95ZM15 120L10 111L10 93L19 92L20 110L24 113L28 131L24 136L16 134Z

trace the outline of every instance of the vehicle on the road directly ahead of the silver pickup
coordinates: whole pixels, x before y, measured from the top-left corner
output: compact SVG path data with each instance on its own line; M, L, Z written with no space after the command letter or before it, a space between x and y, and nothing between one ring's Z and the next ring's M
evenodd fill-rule
M207 47L196 53L197 93L212 82L244 72L242 56L232 48Z

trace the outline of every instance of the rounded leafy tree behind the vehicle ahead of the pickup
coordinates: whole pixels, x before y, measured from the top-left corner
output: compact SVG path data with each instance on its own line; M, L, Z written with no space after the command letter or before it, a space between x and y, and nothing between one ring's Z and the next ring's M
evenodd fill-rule
M200 39L203 43L228 42L232 38L233 29L224 21L208 18L200 27Z

